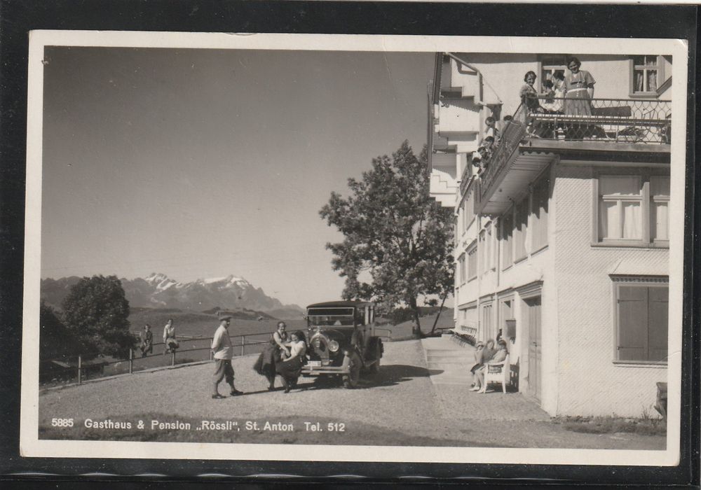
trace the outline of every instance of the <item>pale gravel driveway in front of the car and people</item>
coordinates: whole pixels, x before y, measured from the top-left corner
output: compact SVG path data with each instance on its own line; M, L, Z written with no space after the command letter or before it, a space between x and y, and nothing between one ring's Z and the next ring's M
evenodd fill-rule
M236 387L245 392L222 400L210 398L212 365L192 365L154 372L139 372L114 379L70 386L41 393L39 427L42 438L187 440L232 442L296 442L308 444L381 444L419 446L571 447L606 449L663 449L663 437L634 434L572 433L551 421L480 420L449 416L446 400L456 387L437 393L421 342L386 344L379 374L360 388L347 390L321 386L301 378L296 390L267 391L267 381L252 370L254 356L235 358ZM226 384L220 391L228 391ZM489 395L486 395L489 396ZM479 399L477 399L479 400ZM475 401L478 402L478 401ZM72 418L74 428L51 427L52 418ZM226 435L206 430L116 431L95 433L84 421L236 421L240 432ZM245 422L258 423L245 430ZM292 423L294 431L262 430L264 423ZM304 422L320 423L323 431L305 430ZM329 432L327 424L342 423L343 432ZM148 428L147 428L148 429ZM259 430L260 429L260 430ZM198 429L199 430L199 429Z

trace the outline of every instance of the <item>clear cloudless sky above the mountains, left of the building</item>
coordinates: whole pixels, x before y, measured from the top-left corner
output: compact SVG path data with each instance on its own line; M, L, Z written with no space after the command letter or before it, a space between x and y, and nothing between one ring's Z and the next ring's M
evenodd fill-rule
M41 276L243 276L338 299L318 211L426 144L432 53L46 48Z

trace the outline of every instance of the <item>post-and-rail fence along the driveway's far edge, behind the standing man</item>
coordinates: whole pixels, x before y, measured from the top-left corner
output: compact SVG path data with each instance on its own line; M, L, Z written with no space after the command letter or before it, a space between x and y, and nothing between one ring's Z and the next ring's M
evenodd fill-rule
M268 343L270 333L232 335L236 356L259 353ZM238 340L238 342L236 342ZM140 349L129 349L125 358L100 358L96 353L81 353L79 356L40 360L39 379L41 384L62 384L86 379L132 374L154 367L175 366L212 359L212 337L179 337L179 348L168 351L163 342L152 344L149 353L141 355ZM188 354L188 355L186 355Z

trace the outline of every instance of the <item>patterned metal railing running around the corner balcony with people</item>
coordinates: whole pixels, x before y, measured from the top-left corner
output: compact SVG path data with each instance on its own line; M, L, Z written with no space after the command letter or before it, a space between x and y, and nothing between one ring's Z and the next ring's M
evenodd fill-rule
M575 108L580 113L565 114ZM539 97L540 108L518 107L512 120L505 123L501 136L491 152L482 156L479 178L481 197L489 191L494 177L510 162L519 146L538 140L597 141L606 144L669 144L672 137L672 103L662 100L631 99L549 99L564 111L547 111L544 97ZM552 107L552 105L550 105ZM552 147L552 145L550 145ZM615 146L611 146L613 150ZM463 176L464 177L464 176ZM461 190L463 183L461 182Z

